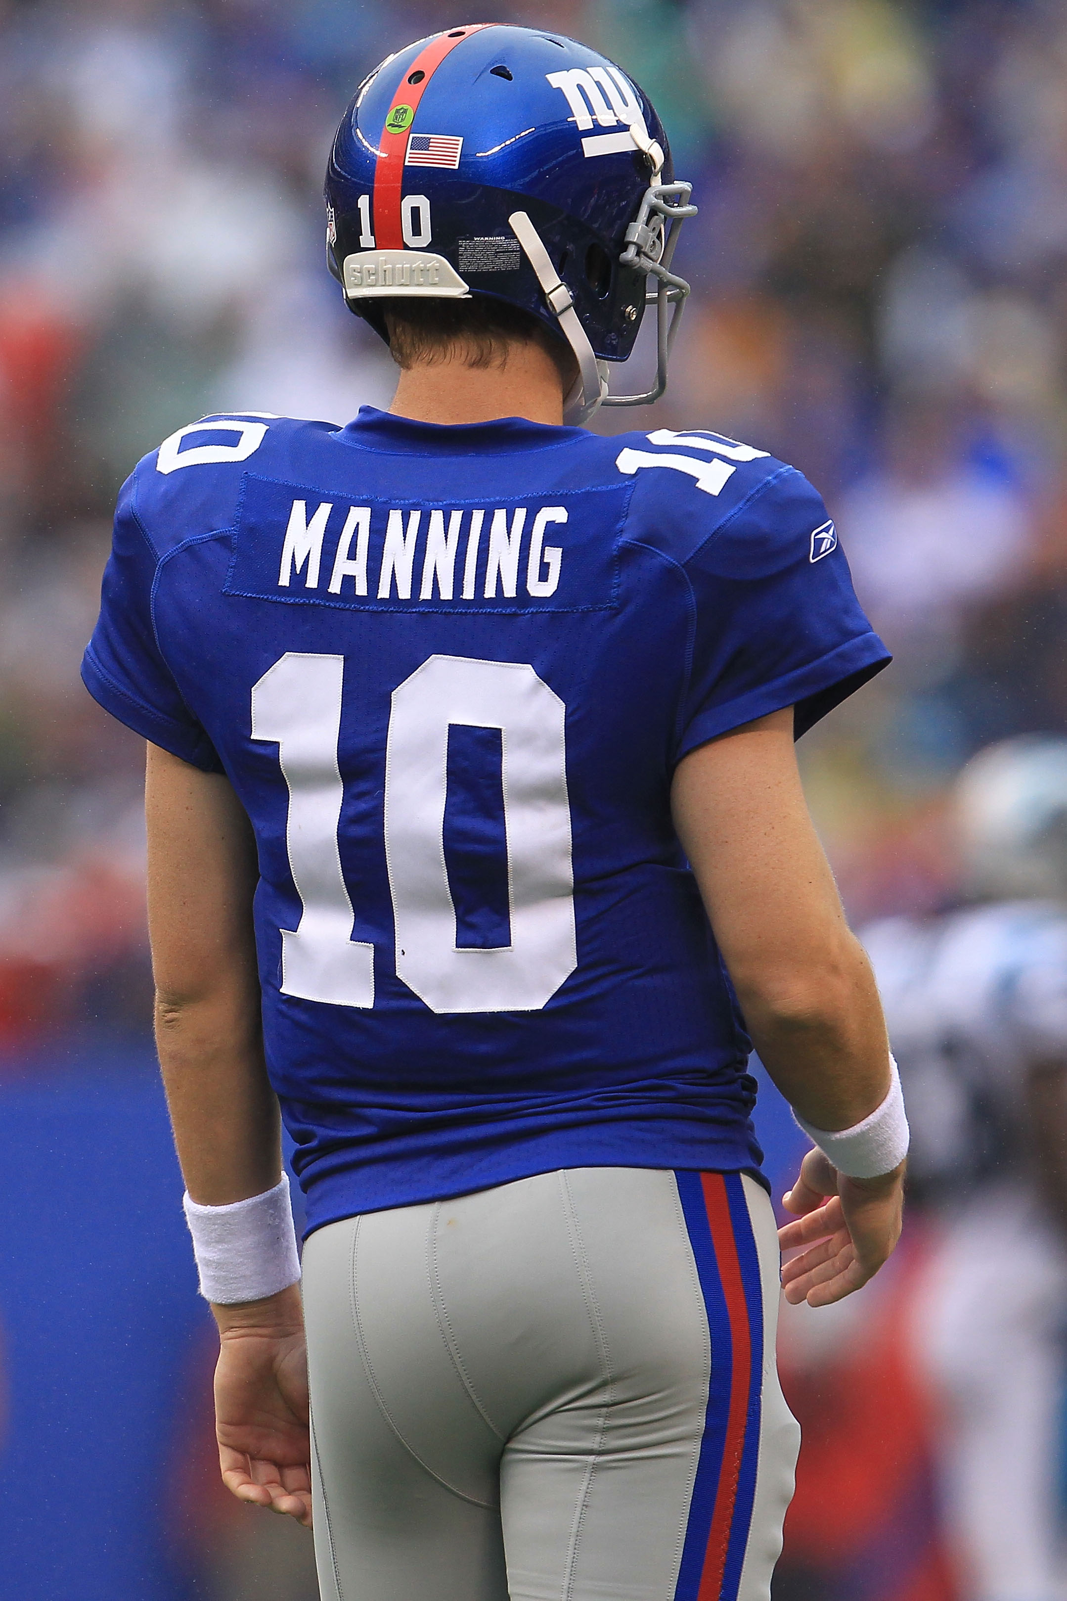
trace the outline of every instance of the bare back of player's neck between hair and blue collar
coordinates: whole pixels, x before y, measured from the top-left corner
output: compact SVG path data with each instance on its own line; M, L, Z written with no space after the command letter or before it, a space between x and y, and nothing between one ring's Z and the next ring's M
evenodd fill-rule
M555 362L539 344L515 341L499 367L469 367L456 359L405 367L389 410L416 423L491 423L498 416L525 416L558 427L563 384Z

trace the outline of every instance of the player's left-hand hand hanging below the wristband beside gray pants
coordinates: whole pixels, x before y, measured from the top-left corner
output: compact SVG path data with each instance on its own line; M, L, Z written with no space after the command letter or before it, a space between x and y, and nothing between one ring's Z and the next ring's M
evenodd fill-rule
M238 1500L312 1526L307 1354L298 1286L242 1306L213 1306L219 1324L214 1420L222 1483Z

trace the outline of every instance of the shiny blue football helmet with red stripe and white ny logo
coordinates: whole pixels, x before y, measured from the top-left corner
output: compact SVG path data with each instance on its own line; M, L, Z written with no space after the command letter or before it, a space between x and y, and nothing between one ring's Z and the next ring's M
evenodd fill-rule
M382 336L386 296L486 295L574 351L568 423L664 392L689 293L670 261L696 207L651 102L597 51L502 24L408 45L360 85L325 192L330 271ZM609 395L603 363L653 303L656 383Z

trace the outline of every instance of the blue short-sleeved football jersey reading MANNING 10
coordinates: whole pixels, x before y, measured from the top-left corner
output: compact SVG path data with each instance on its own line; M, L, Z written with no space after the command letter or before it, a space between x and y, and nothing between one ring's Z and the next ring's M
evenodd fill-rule
M251 818L309 1226L558 1167L757 1172L670 778L886 660L814 490L715 434L363 408L146 456L85 682Z

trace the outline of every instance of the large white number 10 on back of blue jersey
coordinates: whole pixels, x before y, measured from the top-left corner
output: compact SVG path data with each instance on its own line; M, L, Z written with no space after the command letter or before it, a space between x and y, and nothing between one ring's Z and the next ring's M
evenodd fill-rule
M352 938L338 767L344 656L286 652L251 692L251 736L277 743L302 914L282 930L282 993L374 1004L374 949ZM577 964L565 706L525 663L430 656L392 693L382 829L397 977L432 1012L531 1012ZM445 861L448 728L501 730L510 945L461 948Z

